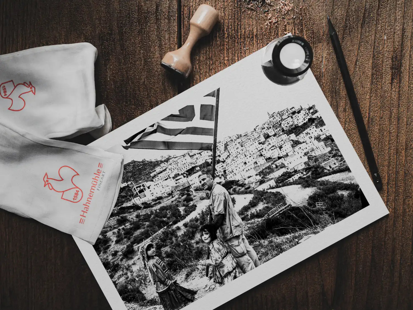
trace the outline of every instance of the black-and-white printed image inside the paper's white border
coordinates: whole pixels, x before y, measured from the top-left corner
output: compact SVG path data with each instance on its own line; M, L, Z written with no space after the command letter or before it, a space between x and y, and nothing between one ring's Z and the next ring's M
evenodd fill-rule
M183 308L368 205L315 105L217 127L214 146L217 94L123 145L94 248L128 309Z

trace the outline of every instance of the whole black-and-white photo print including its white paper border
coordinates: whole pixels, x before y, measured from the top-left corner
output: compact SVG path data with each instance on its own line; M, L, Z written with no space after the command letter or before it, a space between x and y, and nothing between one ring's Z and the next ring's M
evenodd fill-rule
M388 213L311 72L273 84L260 53L92 144L125 158L75 238L112 308L216 308Z

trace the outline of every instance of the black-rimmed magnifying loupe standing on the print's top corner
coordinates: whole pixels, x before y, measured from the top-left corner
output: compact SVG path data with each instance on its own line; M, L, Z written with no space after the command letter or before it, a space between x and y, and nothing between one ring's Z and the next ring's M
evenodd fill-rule
M300 36L283 36L264 50L262 70L272 82L291 85L304 78L313 62L310 43Z

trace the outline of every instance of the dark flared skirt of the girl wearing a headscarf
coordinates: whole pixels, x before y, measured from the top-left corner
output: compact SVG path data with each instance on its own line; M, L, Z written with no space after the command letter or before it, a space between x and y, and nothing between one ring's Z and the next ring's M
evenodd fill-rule
M157 292L164 310L181 309L195 300L197 291L180 286L176 282L173 283L175 288L169 286L163 291Z

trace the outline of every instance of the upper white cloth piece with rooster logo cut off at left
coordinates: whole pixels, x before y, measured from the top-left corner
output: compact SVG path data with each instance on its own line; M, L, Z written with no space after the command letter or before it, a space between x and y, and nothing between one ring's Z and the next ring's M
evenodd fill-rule
M104 105L95 108L96 57L90 43L0 55L0 120L51 139L106 134L112 121Z

